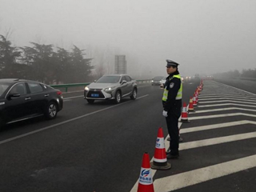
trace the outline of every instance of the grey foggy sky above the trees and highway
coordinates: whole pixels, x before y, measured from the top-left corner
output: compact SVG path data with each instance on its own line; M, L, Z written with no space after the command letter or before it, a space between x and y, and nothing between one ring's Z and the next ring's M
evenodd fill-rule
M15 46L76 45L108 72L114 54L125 54L131 75L166 75L167 58L183 75L214 74L256 67L255 7L255 0L0 0L0 34L11 30Z

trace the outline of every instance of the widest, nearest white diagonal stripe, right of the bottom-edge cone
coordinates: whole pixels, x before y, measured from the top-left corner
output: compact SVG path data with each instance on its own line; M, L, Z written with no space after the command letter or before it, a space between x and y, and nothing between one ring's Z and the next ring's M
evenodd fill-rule
M230 162L222 162L214 166L206 166L197 170L190 170L182 174L174 174L166 178L154 181L155 192L168 192L178 190L186 186L192 186L200 182L206 182L214 178L234 174L241 170L247 170L256 166L256 155L246 158L238 158Z

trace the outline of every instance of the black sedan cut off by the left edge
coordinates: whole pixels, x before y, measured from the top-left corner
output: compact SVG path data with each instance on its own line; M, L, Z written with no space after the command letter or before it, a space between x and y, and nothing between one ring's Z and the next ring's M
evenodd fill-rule
M60 90L41 82L0 79L0 126L40 115L53 119L62 107Z

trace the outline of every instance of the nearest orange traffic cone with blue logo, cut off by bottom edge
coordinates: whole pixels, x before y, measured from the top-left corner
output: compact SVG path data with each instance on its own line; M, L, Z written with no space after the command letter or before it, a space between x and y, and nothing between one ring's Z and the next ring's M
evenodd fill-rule
M150 155L148 153L143 154L137 192L154 192L153 179L150 170Z

